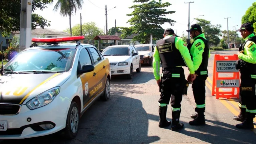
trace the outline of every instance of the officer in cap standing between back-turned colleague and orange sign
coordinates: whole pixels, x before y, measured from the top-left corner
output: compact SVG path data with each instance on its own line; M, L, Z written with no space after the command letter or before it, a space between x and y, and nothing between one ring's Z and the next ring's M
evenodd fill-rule
M190 37L194 39L194 42L188 44L187 48L189 49L191 59L193 60L197 76L192 84L193 95L196 102L195 111L197 113L190 116L191 118L194 118L194 120L190 121L189 124L205 125L205 81L208 77L207 66L210 57L209 42L205 38L205 34L202 33L202 28L199 24L191 25L190 29L186 31L189 31Z

